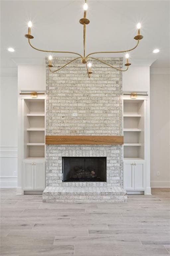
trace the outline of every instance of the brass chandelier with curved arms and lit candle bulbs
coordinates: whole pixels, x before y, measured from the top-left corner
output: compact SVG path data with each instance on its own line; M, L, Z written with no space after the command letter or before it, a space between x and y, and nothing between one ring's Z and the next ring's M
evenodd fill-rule
M86 3L86 0L85 0L85 4L83 6L83 9L84 9L84 17L82 19L79 20L80 24L83 25L83 47L84 47L84 53L83 55L79 54L79 53L76 53L76 52L68 52L68 51L48 51L48 50L41 50L41 49L38 49L36 47L34 47L31 42L30 42L30 39L33 39L34 36L31 35L31 27L32 27L32 23L31 21L29 21L28 23L28 34L25 35L26 38L28 38L28 42L30 44L30 46L32 48L34 48L35 50L38 50L38 51L41 51L41 52L49 52L49 53L71 53L71 54L75 54L75 55L78 55L78 57L76 57L75 59L69 61L68 63L66 63L65 65L63 65L62 67L58 68L58 69L54 69L56 68L55 66L52 65L52 56L49 55L48 59L49 59L49 63L48 63L48 67L49 67L49 70L50 72L54 73L54 72L57 72L58 70L62 69L63 67L67 66L68 64L70 64L71 62L75 61L75 60L78 60L78 59L81 59L81 62L83 64L86 65L86 69L87 69L87 74L88 74L88 77L90 78L90 75L92 74L92 64L91 62L89 61L90 59L93 59L93 60L97 60L97 61L100 61L104 64L106 64L107 66L111 67L111 68L114 68L116 70L119 70L119 71L127 71L128 70L128 67L131 65L128 61L128 58L129 58L129 55L128 55L128 52L129 51L132 51L134 50L138 44L139 44L139 40L141 40L143 38L142 35L140 35L140 28L141 28L141 25L140 23L137 24L137 35L134 37L134 39L137 41L137 44L131 48L131 49L128 49L128 50L125 50L125 51L106 51L106 52L92 52L92 53L89 53L88 55L86 55L86 52L85 52L85 49L86 49L86 25L88 25L90 23L90 20L86 18L86 15L87 15L87 9L88 9L88 5ZM92 55L94 54L97 54L97 53L126 53L126 68L125 69L119 69L117 67L114 67L98 58L95 58L95 57L92 57Z

